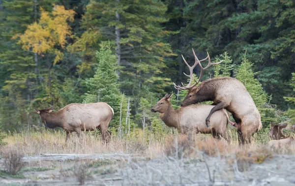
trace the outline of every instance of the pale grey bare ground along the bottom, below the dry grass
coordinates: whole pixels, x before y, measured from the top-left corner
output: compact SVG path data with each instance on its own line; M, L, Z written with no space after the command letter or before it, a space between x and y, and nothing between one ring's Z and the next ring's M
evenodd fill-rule
M83 163L88 186L295 186L294 155L242 165L233 157L148 159L133 154L43 154L23 160L24 178L2 176L1 186L79 185L74 172Z

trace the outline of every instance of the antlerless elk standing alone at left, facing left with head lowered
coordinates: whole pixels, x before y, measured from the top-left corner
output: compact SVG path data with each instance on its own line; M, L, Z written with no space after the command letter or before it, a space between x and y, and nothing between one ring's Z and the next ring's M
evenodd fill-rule
M60 127L66 131L65 142L72 132L76 132L79 137L81 131L96 129L100 130L103 141L110 140L107 128L114 115L114 110L107 103L69 104L57 112L53 112L53 109L54 106L43 110L35 108L45 127L50 129Z

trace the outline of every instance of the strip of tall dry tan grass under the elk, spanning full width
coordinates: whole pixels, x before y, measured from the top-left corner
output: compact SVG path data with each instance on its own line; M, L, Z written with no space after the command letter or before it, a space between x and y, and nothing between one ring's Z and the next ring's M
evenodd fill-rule
M138 154L148 158L158 158L163 156L172 156L176 158L182 157L198 157L199 152L204 152L207 156L228 157L236 155L237 157L246 157L242 154L249 153L249 150L255 151L267 145L269 139L267 135L257 135L259 139L263 137L261 143L257 138L253 138L253 142L241 148L236 139L236 131L228 130L228 138L230 142L224 139L213 139L211 135L196 134L192 137L187 135L164 135L155 137L153 135L143 136L143 133L118 138L114 137L107 145L102 144L100 136L95 133L83 133L82 138L77 138L76 134L71 135L70 140L65 144L65 133L63 132L27 132L8 134L4 139L8 143L3 149L18 149L24 156L35 156L40 154L92 154L92 153L127 153ZM262 152L263 153L263 152ZM258 154L262 154L258 153ZM275 154L295 154L295 147L288 150L276 149L272 153ZM251 154L253 152L251 151ZM254 155L251 155L253 157ZM269 157L266 154L266 157Z

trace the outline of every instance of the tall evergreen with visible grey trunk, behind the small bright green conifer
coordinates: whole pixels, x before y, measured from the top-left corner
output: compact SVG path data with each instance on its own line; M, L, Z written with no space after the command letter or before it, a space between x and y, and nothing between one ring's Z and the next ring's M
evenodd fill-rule
M164 41L168 31L161 23L167 7L160 0L93 0L87 6L83 27L95 29L115 45L120 89L134 96L134 111L141 97L164 94L169 78L163 77L165 59L173 55ZM79 42L79 40L77 41Z

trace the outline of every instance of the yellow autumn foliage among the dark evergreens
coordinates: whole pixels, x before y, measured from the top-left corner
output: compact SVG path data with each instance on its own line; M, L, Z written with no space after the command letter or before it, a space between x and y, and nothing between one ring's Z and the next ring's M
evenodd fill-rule
M71 35L71 27L67 21L73 22L75 12L65 10L64 6L54 5L52 13L46 12L43 8L39 23L28 26L20 37L19 44L24 50L31 50L34 53L55 53L54 65L63 57L63 54L55 49L59 45L64 49L66 37Z

